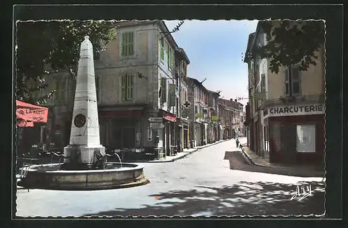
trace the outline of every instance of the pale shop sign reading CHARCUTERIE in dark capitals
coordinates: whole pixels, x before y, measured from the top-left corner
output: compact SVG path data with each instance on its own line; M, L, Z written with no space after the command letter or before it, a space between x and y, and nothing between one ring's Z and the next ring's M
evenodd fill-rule
M323 104L313 105L280 105L269 107L264 112L264 118L269 116L301 116L301 115L317 115L325 113L325 106Z

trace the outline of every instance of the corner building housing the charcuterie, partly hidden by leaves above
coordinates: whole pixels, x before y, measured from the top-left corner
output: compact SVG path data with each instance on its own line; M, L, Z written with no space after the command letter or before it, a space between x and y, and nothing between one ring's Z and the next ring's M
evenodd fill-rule
M267 40L260 22L249 36L247 52ZM246 53L247 53L246 52ZM324 52L308 70L282 67L271 73L269 60L246 57L249 72L251 149L270 162L323 164L324 161Z

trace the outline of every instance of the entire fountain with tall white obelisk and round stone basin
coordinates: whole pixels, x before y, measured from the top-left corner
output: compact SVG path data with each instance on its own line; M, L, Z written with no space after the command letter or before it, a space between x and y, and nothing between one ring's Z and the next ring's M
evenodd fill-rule
M99 190L124 188L148 183L143 167L105 162L95 89L93 46L88 36L81 43L77 85L74 98L70 144L64 148L63 164L32 165L18 183L26 188L58 190Z

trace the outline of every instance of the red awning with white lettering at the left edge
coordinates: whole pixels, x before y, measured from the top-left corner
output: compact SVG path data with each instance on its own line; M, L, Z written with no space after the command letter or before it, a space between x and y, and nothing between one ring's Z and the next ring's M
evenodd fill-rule
M47 107L31 105L20 100L16 100L16 105L18 127L33 127L34 123L47 123Z

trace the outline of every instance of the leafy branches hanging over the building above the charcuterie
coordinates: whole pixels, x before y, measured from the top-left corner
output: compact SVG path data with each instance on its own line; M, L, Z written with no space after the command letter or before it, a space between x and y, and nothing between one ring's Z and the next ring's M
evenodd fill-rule
M267 36L267 44L255 48L253 55L269 59L269 69L278 73L282 66L300 64L300 70L316 65L315 54L324 46L325 27L323 21L282 20L262 21L260 29Z

